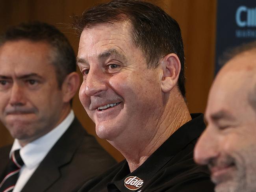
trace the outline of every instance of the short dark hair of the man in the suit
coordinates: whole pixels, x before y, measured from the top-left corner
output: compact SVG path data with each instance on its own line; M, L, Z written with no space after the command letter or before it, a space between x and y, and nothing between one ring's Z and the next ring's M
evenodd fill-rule
M8 41L46 42L52 47L59 88L65 77L76 71L76 56L68 39L55 26L39 21L12 26L0 36L0 46Z

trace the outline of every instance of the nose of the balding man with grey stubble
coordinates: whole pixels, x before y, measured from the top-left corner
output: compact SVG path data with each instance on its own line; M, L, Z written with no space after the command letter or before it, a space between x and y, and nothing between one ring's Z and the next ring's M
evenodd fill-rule
M218 155L217 135L210 133L208 128L202 133L194 149L194 159L198 164L208 162Z

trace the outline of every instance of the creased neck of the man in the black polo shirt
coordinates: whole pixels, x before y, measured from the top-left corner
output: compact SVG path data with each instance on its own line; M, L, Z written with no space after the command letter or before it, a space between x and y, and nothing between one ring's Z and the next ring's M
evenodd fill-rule
M164 111L157 122L147 124L143 128L147 137L132 137L120 142L109 141L125 157L129 164L130 171L133 172L143 162L145 162L154 151L156 151L179 127L191 120L187 105L182 96L172 96L175 101L168 100ZM138 126L139 130L141 127Z

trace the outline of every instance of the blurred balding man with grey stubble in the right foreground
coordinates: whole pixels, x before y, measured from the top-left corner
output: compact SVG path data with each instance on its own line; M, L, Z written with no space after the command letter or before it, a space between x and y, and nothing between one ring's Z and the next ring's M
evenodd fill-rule
M216 192L256 191L256 42L236 48L210 90L208 126L195 161L208 164Z

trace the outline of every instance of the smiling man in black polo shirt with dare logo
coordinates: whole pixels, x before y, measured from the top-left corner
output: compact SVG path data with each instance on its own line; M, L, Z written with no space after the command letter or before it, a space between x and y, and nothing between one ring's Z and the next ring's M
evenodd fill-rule
M205 125L185 102L178 23L160 7L117 0L85 11L74 26L80 100L97 135L126 158L80 191L213 191L206 168L193 161Z

